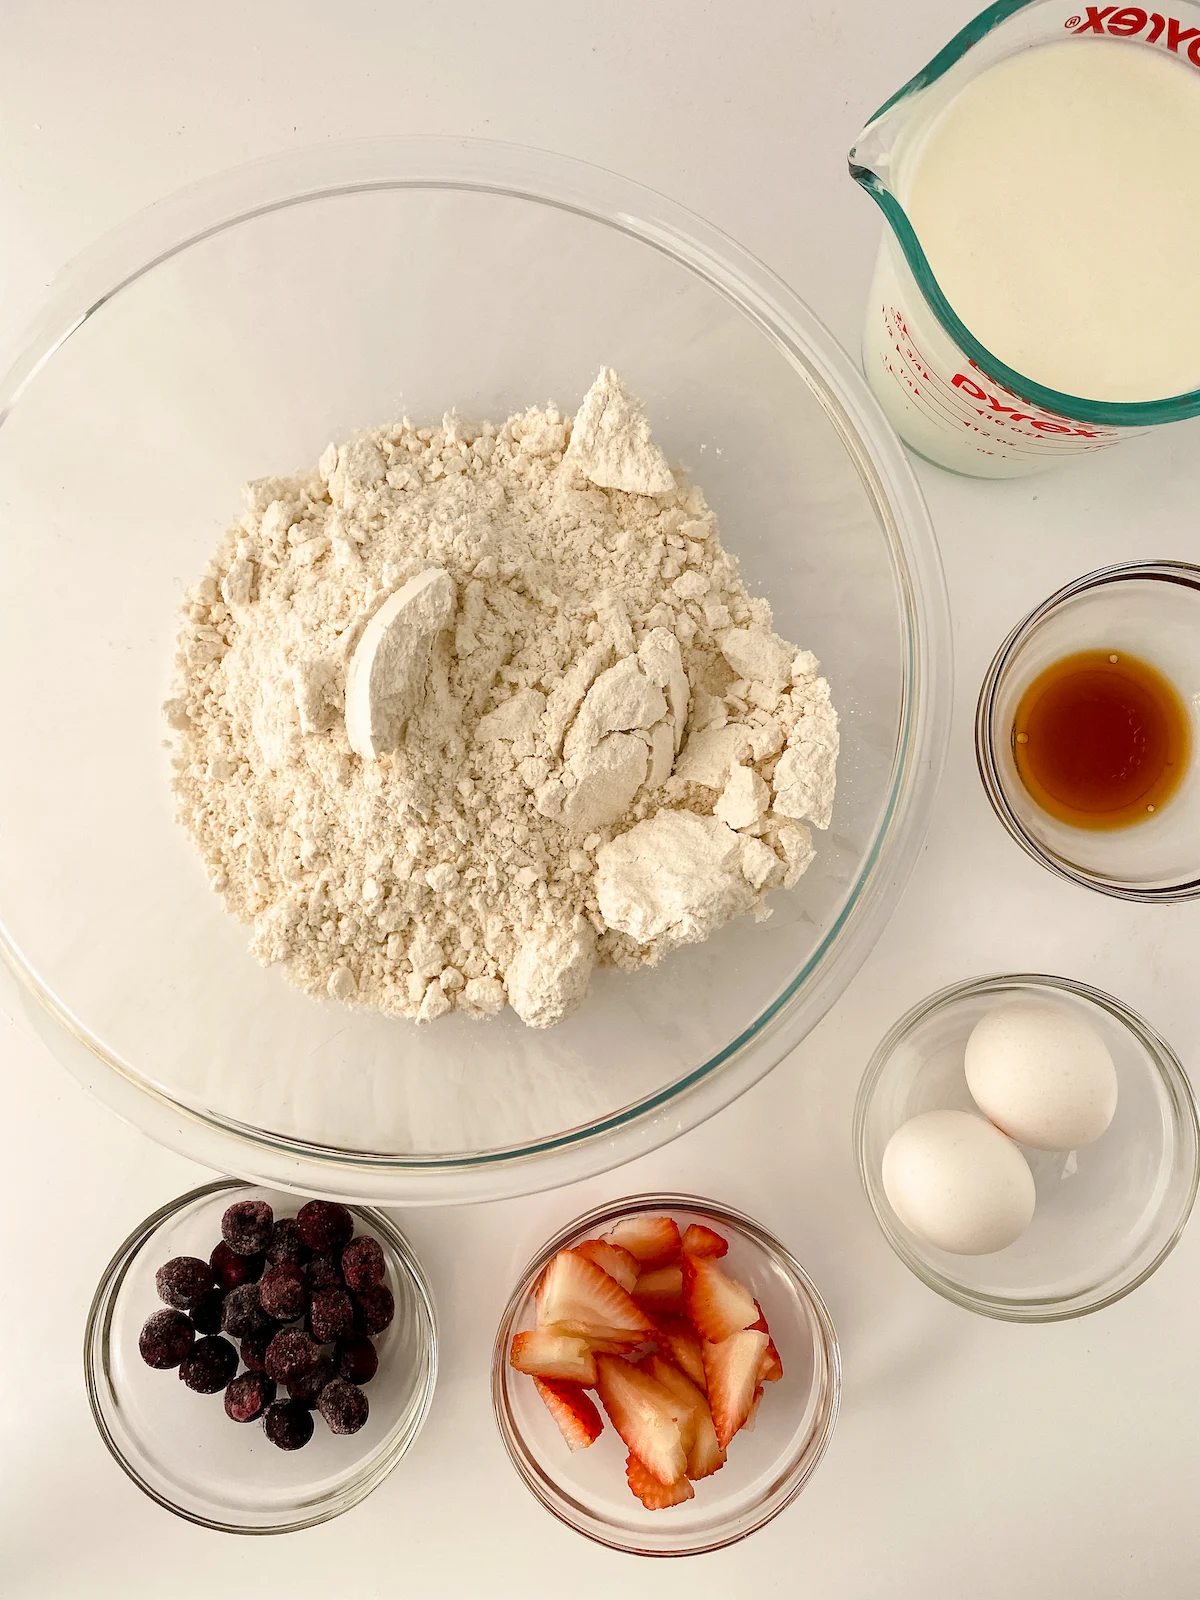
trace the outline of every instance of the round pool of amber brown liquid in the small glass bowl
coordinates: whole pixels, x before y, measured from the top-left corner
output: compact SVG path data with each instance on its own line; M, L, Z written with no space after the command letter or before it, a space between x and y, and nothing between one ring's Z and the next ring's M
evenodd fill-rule
M1013 757L1032 798L1072 827L1131 827L1179 787L1192 754L1187 707L1146 661L1082 650L1021 698Z

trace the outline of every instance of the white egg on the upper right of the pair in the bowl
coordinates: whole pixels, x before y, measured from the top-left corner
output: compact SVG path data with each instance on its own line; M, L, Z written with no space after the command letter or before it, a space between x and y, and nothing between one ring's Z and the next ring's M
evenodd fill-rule
M966 1086L997 1128L1038 1150L1099 1139L1117 1110L1117 1069L1096 1029L1070 1005L1021 1000L976 1022Z

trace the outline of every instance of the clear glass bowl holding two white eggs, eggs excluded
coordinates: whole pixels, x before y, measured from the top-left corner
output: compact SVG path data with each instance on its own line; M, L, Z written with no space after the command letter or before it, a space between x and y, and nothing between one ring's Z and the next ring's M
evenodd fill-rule
M1022 1146L1037 1186L1029 1229L995 1254L954 1256L891 1210L883 1150L922 1112L978 1112L963 1070L971 1029L995 1006L1030 997L1077 1008L1101 1035L1117 1067L1117 1114L1080 1150ZM1112 995L1029 973L952 984L902 1016L862 1077L854 1147L862 1187L901 1261L955 1304L1006 1322L1083 1317L1136 1290L1182 1234L1200 1173L1195 1098L1166 1040Z

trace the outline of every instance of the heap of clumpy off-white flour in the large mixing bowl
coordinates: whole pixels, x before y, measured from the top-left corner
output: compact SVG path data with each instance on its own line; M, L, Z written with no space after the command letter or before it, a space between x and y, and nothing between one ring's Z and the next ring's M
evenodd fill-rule
M574 422L405 419L248 485L184 606L179 818L307 992L544 1027L808 867L816 674L603 370Z

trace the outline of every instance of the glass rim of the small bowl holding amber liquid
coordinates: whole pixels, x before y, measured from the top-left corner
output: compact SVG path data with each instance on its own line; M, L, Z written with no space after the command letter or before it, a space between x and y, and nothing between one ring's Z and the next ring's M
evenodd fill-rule
M987 802L1005 827L1005 832L1021 845L1027 856L1038 866L1046 867L1069 883L1078 883L1099 894L1110 894L1114 899L1136 901L1142 906L1165 906L1173 901L1197 899L1200 896L1200 874L1178 883L1152 885L1142 888L1136 883L1122 883L1107 878L1101 872L1088 872L1042 845L1026 829L1008 798L1008 786L1002 776L1002 765L997 754L995 712L1000 691L1018 654L1042 624L1053 616L1059 606L1093 589L1106 589L1109 584L1122 582L1168 582L1182 589L1194 589L1200 595L1200 566L1192 562L1149 560L1149 562L1117 562L1112 566L1098 566L1082 578L1074 578L1069 584L1056 589L1040 605L1035 605L1016 627L1011 629L1005 642L992 658L984 682L979 686L979 699L974 710L974 760L984 786Z

